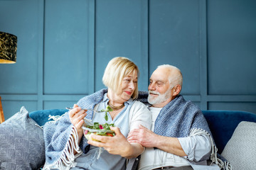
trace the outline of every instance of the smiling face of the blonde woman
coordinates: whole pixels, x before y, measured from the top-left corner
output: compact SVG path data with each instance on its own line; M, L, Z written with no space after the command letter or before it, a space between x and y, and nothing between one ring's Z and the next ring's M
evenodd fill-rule
M121 88L119 94L117 94L122 100L128 101L131 98L134 90L137 88L138 76L135 70L131 74L128 74L122 79Z

